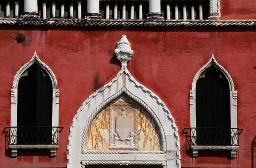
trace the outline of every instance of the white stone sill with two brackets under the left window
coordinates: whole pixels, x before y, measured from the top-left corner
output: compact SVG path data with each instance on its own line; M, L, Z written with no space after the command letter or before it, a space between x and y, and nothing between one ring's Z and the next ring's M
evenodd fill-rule
M56 149L58 145L9 145L11 149L11 156L17 156L17 149L50 149L50 156L56 156Z

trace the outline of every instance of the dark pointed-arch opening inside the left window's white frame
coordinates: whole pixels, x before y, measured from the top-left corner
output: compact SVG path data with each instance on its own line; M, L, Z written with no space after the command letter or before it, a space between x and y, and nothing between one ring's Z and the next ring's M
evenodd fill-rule
M50 141L50 127L52 126L52 82L47 72L37 63L34 63L27 69L20 78L18 84L17 117L17 143L44 144L46 141ZM19 127L27 128L24 130L25 128L19 129ZM36 129L35 127L41 128ZM29 136L24 138L26 134L35 138L29 138Z

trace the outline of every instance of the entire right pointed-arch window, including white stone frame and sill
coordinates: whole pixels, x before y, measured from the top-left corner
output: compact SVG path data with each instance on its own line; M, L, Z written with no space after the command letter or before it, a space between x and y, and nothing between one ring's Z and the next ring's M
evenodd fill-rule
M239 148L237 92L229 73L216 62L214 55L195 75L190 98L190 148L230 150L231 158Z

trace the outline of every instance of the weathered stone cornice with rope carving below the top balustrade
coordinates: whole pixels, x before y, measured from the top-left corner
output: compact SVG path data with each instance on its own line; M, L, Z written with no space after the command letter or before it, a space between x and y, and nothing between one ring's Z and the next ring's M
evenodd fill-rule
M256 27L256 20L106 20L0 18L0 27Z

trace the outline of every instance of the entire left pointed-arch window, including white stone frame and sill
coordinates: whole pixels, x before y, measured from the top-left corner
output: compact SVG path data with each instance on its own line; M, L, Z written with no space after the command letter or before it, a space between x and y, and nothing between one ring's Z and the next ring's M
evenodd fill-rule
M48 148L55 156L59 132L59 90L55 75L36 52L14 77L9 148Z

